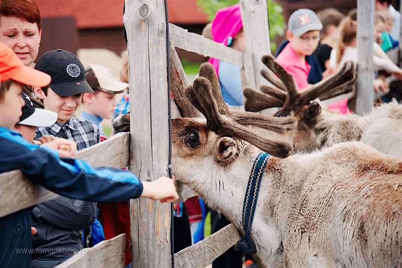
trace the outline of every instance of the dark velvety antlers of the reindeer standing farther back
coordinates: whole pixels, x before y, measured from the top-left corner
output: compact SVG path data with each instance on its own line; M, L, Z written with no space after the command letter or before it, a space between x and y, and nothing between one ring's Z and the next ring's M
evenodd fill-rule
M258 112L271 107L294 110L295 107L306 105L316 98L324 100L349 93L357 81L355 63L347 61L334 76L299 92L293 76L287 73L272 55L264 55L262 61L269 70L262 70L261 74L277 88L263 85L260 87L263 93L245 88L244 95L247 100L244 106L247 111ZM267 98L267 95L270 98ZM283 105L278 106L281 102Z

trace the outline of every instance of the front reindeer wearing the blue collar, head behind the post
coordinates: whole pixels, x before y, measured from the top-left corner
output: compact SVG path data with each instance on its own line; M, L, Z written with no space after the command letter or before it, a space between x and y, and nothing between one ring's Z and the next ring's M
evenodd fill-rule
M173 172L242 229L242 197L264 140L247 138L252 130L228 116L211 65L201 65L186 95L206 122L172 120ZM402 267L401 179L400 160L362 142L271 156L250 233L258 256L268 267Z

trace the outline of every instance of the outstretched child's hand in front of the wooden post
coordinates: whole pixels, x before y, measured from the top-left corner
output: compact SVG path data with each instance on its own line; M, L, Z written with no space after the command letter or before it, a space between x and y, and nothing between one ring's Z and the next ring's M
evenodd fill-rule
M178 199L173 180L167 177L160 177L155 181L142 181L142 185L141 197L160 200L161 203L174 202Z

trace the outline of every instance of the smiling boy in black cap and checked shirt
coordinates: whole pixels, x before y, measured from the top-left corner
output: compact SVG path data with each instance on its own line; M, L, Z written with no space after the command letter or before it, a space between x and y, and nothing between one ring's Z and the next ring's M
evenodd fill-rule
M77 56L62 49L49 51L39 58L35 69L51 76L49 86L35 88L35 94L43 100L46 110L57 113L57 122L38 128L35 140L43 135L66 138L74 140L78 150L98 143L98 128L87 120L73 117L81 104L82 93L94 93Z

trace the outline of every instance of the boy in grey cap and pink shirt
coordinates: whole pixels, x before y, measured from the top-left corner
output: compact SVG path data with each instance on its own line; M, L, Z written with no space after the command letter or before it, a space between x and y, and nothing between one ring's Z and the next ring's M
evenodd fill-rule
M322 23L316 13L310 9L299 9L289 17L286 38L289 43L280 51L277 61L291 75L293 75L299 89L306 89L309 83L318 83L322 79L322 70L315 59L314 68L318 69L318 81L310 81L309 75L312 64L306 57L312 55L320 41ZM315 57L314 57L315 58Z

